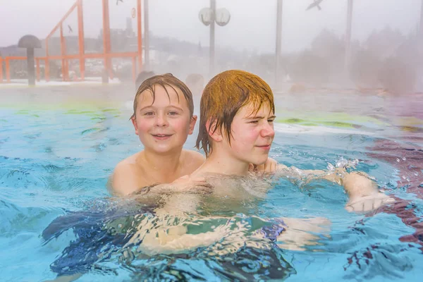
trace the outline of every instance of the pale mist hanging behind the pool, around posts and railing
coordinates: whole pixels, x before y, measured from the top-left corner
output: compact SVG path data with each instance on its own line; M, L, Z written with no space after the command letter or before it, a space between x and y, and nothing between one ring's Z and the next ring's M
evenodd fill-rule
M44 39L75 0L0 1L0 46L13 47L25 34ZM229 68L261 75L274 87L284 83L304 87L383 88L389 92L422 89L419 73L422 36L419 33L421 0L355 0L353 6L350 64L345 68L345 32L348 1L324 0L306 11L310 0L283 1L281 73L275 77L277 1L216 1L231 20L215 29L215 68L209 70L209 27L198 13L208 0L149 1L149 62L147 71L171 72L184 79L190 73L204 78ZM85 53L102 52L102 1L84 0ZM109 1L111 50L136 51L135 0ZM19 15L19 16L16 16ZM145 25L142 26L145 35ZM78 53L78 18L72 13L63 32L68 54ZM126 33L125 33L126 30ZM125 34L125 37L122 37ZM54 42L56 37L56 42ZM59 31L53 35L51 54L60 54ZM1 56L16 56L20 49L1 48ZM45 54L37 50L37 55ZM145 54L144 54L145 56ZM144 58L145 59L145 58ZM78 62L75 61L74 64ZM92 62L98 75L101 60ZM114 59L116 75L130 80L128 60ZM59 67L58 67L59 68ZM400 73L400 75L398 75ZM294 90L303 86L294 87Z

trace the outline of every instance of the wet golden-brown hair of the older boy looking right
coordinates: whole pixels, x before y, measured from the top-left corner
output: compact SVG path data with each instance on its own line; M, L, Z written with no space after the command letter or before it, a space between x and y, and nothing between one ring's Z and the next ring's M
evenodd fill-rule
M209 125L212 130L225 130L231 144L231 125L235 114L247 104L252 103L255 112L263 104L269 104L275 112L274 95L269 85L257 75L246 71L224 71L207 83L200 103L200 131L195 147L204 149L206 157L212 152L212 140L209 138ZM213 132L214 132L213 131Z

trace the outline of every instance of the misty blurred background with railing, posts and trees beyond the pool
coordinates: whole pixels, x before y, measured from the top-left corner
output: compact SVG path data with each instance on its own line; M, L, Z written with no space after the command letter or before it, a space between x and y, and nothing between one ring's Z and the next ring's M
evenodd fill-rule
M207 82L239 68L290 92L317 87L383 95L423 88L421 0L0 3L4 83L26 78L26 51L17 44L31 34L42 42L35 49L39 80L87 80L105 69L121 81L154 71L182 80L199 73Z

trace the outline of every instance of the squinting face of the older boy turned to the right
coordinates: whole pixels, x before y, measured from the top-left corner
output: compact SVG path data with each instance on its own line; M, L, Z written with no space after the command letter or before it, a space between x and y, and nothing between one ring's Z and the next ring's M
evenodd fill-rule
M264 164L274 140L275 118L267 103L262 104L258 111L251 103L243 106L233 118L231 138L226 136L226 130L222 130L221 147L228 157L233 157L237 161L246 164Z

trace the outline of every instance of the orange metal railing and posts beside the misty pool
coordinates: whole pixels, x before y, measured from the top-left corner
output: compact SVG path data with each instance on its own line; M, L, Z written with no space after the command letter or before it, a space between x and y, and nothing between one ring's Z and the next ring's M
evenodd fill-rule
M67 54L66 53L66 40L63 36L63 22L68 18L68 16L76 9L78 9L78 54ZM132 59L132 73L133 80L135 81L137 75L137 66L141 70L142 68L142 25L141 25L141 0L137 0L137 52L124 52L124 53L113 53L111 52L111 42L110 42L110 19L109 19L109 0L102 0L102 18L103 18L103 53L98 54L85 54L84 46L84 22L83 22L83 9L82 9L82 0L77 0L69 11L63 16L59 23L51 30L49 35L45 39L46 45L46 56L36 57L36 74L37 80L41 79L40 75L40 65L39 61L44 60L44 75L45 80L50 80L50 70L49 70L49 61L51 60L61 60L61 74L62 80L69 80L69 60L77 59L80 64L80 78L79 80L85 80L85 59L103 59L104 68L106 68L107 73L110 78L113 78L113 68L111 59L113 58L131 58ZM54 33L59 30L60 32L60 44L61 44L61 55L60 56L51 56L49 55L49 39ZM25 56L7 56L4 59L0 57L0 83L3 82L3 62L5 61L5 73L6 73L6 82L11 82L10 74L10 61L11 60L26 60Z

